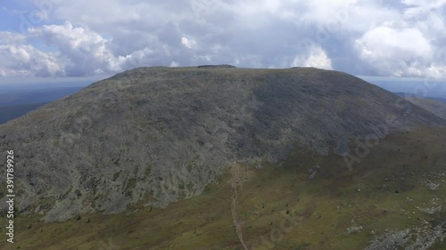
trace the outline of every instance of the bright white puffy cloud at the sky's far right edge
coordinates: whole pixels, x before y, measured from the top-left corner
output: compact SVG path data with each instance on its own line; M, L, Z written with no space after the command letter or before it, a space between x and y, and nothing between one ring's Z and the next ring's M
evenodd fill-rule
M361 63L378 76L438 77L446 67L445 20L438 8L446 1L401 4L401 19L385 20L355 39Z

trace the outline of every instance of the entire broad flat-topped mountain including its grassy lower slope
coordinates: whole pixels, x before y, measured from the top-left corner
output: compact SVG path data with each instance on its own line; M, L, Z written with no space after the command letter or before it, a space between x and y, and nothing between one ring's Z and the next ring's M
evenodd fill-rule
M445 125L337 71L129 70L0 125L14 247L444 249Z

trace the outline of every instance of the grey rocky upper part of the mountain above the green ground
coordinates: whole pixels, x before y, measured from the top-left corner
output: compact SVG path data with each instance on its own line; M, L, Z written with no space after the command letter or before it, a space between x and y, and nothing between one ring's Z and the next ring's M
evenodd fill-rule
M280 165L296 147L343 155L352 136L383 124L392 133L445 121L342 72L153 67L0 125L0 150L16 152L17 207L53 222L167 206L227 165Z

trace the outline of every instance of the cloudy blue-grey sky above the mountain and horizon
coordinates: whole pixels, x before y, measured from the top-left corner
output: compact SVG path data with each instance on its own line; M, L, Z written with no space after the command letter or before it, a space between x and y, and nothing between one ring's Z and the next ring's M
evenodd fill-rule
M0 83L143 66L446 78L446 0L4 0Z

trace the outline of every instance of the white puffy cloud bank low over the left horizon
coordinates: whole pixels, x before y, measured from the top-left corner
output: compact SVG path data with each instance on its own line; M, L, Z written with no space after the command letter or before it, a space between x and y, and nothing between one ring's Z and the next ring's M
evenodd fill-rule
M108 47L111 40L88 28L74 27L70 21L62 25L30 28L28 35L4 34L8 36L4 36L2 40L2 53L4 58L11 60L4 60L3 76L23 74L76 77L116 73L150 65L150 57L154 53L146 47L124 56L115 56ZM55 46L57 52L42 52L30 44L13 44L37 39L45 41L48 46ZM36 65L31 65L31 58Z

